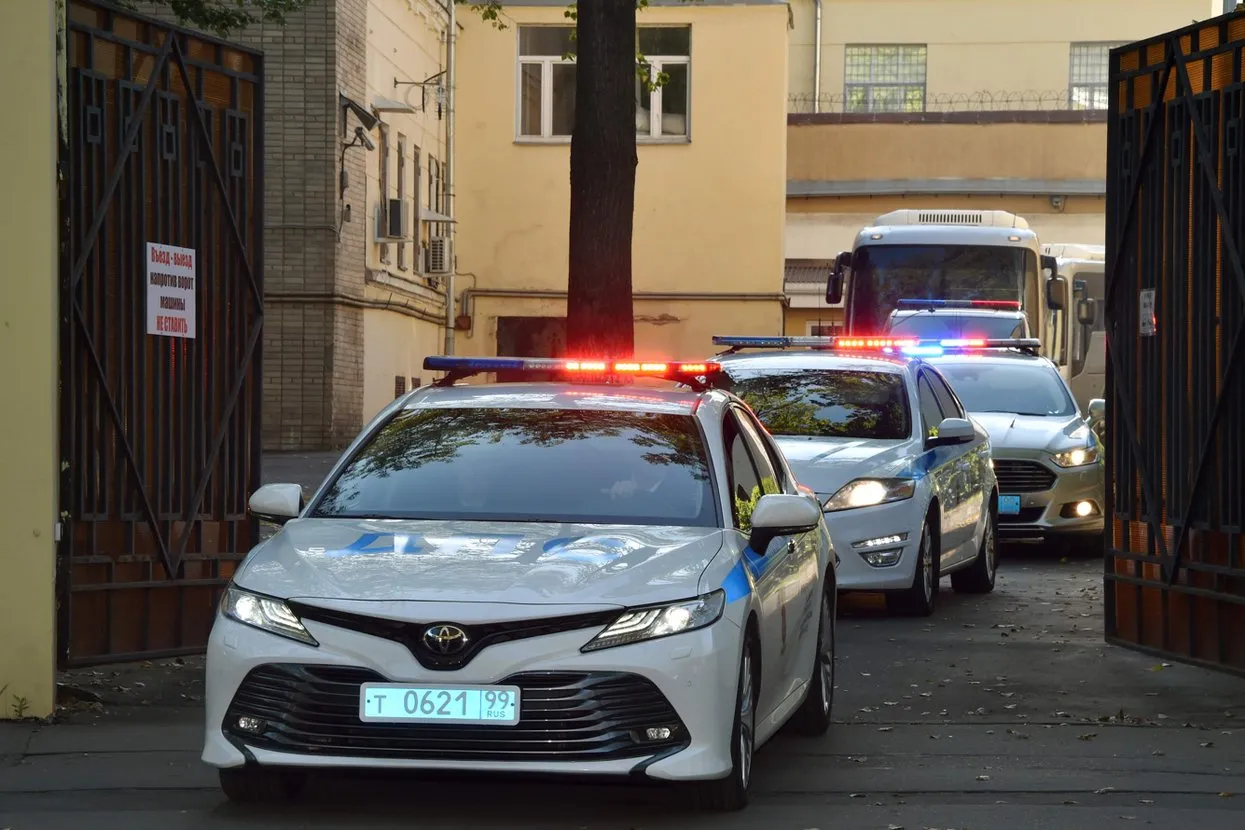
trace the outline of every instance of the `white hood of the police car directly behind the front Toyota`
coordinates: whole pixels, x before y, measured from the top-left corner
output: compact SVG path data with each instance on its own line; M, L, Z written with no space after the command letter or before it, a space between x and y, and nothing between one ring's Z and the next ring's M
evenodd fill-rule
M853 479L903 475L909 467L905 441L789 436L774 439L797 480L825 497Z

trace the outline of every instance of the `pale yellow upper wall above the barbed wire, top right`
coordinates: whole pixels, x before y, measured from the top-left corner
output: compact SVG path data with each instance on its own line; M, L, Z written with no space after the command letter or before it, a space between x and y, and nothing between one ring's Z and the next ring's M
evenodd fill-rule
M791 92L813 91L813 0L792 0ZM843 95L844 45L925 44L929 96L1061 92L1072 42L1128 42L1206 20L1221 0L824 0L822 95Z

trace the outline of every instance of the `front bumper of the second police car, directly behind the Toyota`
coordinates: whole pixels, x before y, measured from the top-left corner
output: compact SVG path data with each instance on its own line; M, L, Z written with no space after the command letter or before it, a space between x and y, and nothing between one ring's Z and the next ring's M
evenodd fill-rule
M825 497L818 497L822 501ZM916 574L916 548L921 541L924 513L918 510L915 499L855 508L825 514L830 529L830 541L839 555L835 574L840 591L901 591L913 584ZM874 539L904 536L900 543L875 548L859 546ZM867 551L899 551L893 565L875 566L865 559Z

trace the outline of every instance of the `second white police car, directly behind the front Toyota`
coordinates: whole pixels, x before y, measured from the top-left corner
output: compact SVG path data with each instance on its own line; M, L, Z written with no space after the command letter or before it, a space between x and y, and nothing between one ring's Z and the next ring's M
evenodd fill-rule
M956 591L995 586L997 488L990 438L923 356L986 341L715 337L730 388L773 433L822 501L839 589L884 591L926 616ZM784 351L804 347L806 351ZM759 353L742 350L763 348ZM817 351L814 351L817 350ZM725 383L725 381L723 381Z

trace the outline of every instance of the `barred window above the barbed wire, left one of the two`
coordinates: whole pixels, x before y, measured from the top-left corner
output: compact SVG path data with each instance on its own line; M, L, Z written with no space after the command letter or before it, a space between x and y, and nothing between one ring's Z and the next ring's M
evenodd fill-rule
M925 46L848 46L844 112L924 112Z

